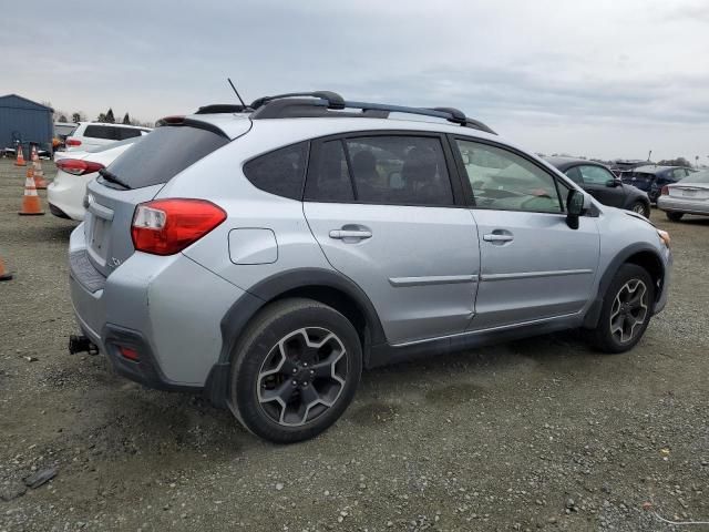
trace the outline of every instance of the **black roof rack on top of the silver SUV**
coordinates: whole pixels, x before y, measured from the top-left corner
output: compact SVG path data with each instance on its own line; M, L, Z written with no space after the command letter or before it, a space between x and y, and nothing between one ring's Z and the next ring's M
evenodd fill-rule
M264 96L254 100L250 105L255 112L253 120L285 119L285 117L316 117L316 116L360 116L389 117L390 113L417 114L444 119L463 127L472 127L496 135L484 123L469 119L465 113L454 108L408 108L386 103L368 103L346 101L342 96L330 91L292 92L275 96ZM361 112L340 112L345 109L359 109ZM338 111L338 112L332 112Z

